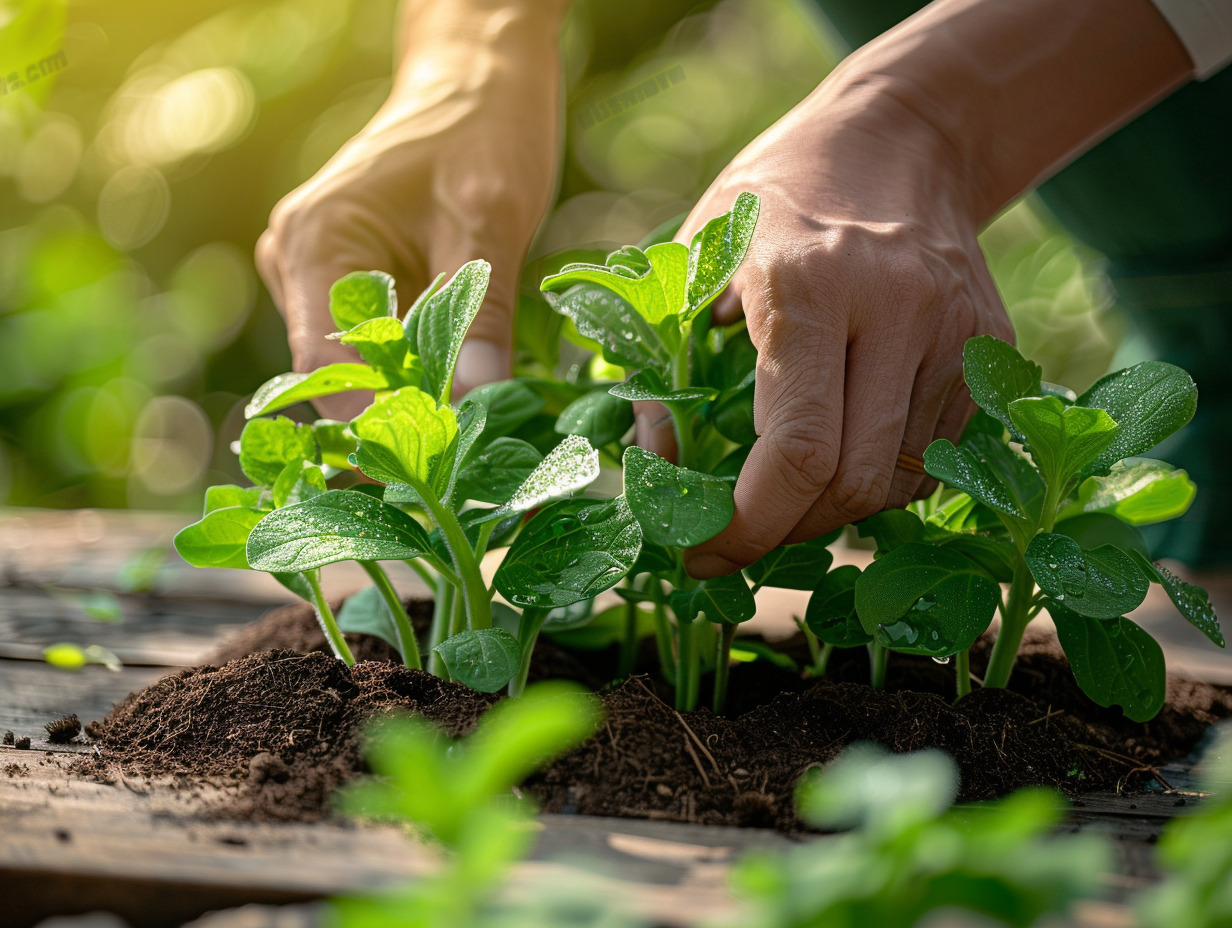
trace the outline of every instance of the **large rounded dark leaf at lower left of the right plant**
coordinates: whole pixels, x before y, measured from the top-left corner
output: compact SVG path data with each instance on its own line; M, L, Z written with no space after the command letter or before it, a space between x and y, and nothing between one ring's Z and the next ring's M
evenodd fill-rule
M957 551L908 542L860 574L855 605L864 630L892 651L946 657L978 638L1000 588Z

